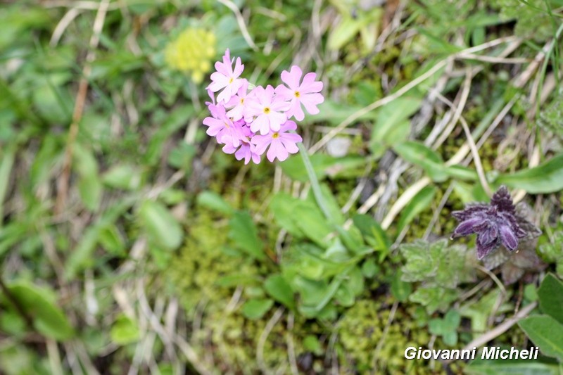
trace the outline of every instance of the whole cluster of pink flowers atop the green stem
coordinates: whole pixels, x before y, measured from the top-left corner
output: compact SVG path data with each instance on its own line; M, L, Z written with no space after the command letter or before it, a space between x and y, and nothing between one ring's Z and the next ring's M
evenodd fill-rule
M236 58L234 68L233 63L228 49L222 63L215 63L217 71L211 75L207 88L211 102L206 104L211 116L203 120L203 125L208 126L207 134L224 145L225 153L234 153L245 164L250 160L260 163L264 153L270 162L276 158L286 160L290 153L298 151L297 143L303 141L292 132L297 124L290 119L303 120L302 105L312 115L319 113L317 105L324 101L320 94L322 82L315 81L315 73L307 73L301 81L303 72L293 65L289 72L281 72L284 84L275 89L267 85L248 90L248 81L241 78L241 58Z

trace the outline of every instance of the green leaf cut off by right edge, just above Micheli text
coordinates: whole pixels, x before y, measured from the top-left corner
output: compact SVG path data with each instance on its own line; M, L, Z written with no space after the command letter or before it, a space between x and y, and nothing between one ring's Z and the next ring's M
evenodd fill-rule
M522 319L518 325L544 355L563 361L563 324L548 315L536 315Z

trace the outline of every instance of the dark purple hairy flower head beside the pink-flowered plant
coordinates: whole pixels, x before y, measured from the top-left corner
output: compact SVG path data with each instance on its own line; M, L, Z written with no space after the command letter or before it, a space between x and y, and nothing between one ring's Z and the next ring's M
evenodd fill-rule
M526 231L519 225L520 218L505 186L493 194L491 203L471 203L465 210L452 212L460 224L455 228L452 239L477 234L477 258L479 260L493 252L501 244L514 251L518 240L526 237Z

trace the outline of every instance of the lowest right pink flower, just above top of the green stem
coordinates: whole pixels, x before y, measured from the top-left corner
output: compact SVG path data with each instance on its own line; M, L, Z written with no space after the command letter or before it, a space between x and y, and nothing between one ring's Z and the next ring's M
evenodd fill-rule
M256 145L255 153L262 155L266 148L270 146L266 154L268 160L273 162L275 158L279 161L287 159L290 153L297 153L297 143L303 141L299 134L289 133L289 130L297 129L294 121L286 121L281 125L278 131L272 130L266 135L255 135L252 137L252 143Z

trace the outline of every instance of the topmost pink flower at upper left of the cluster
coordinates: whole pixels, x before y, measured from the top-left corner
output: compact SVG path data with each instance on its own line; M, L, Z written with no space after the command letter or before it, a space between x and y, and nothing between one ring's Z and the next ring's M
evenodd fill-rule
M223 62L220 63L217 61L217 63L215 63L215 69L217 72L214 72L211 75L211 81L213 82L209 84L208 89L213 92L223 89L223 91L217 95L217 103L227 103L227 101L229 101L233 94L238 91L243 84L243 79L239 78L244 70L241 58L236 58L234 70L232 66L233 61L234 58L231 60L229 49L227 49L227 51L224 52Z

